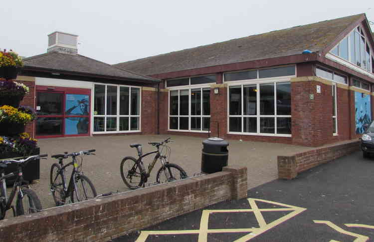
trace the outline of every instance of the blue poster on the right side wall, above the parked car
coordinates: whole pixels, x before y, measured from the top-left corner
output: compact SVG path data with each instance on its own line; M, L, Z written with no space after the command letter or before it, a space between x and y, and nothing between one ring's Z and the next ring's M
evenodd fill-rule
M364 124L370 124L372 122L370 95L355 92L355 107L356 134L362 134L365 131Z

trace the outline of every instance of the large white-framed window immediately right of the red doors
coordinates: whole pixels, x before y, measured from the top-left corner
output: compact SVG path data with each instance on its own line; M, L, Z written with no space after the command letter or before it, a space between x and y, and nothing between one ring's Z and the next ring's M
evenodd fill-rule
M94 132L140 131L140 88L95 84Z

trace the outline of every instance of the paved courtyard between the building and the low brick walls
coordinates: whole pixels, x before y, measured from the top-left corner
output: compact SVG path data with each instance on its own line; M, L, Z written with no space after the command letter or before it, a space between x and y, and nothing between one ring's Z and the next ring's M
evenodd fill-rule
M83 172L90 178L98 194L106 192L124 192L128 188L120 175L120 163L125 156L137 156L132 143L143 144L143 153L154 150L148 142L159 142L172 137L173 143L170 162L183 167L188 176L200 173L201 142L205 138L176 135L125 135L125 136L95 136L74 138L40 139L40 153L48 154L47 160L40 160L40 180L32 184L32 189L41 200L43 209L54 207L54 201L49 190L50 167L57 162L51 155L96 149L95 156L85 156L83 159ZM248 167L248 189L257 187L266 182L277 179L277 155L288 155L313 148L263 142L246 142L228 140L229 165ZM150 157L153 157L152 155ZM67 160L66 160L67 161ZM146 159L148 164L151 159ZM152 171L149 182L154 182L160 167L157 164ZM71 169L68 172L70 178Z

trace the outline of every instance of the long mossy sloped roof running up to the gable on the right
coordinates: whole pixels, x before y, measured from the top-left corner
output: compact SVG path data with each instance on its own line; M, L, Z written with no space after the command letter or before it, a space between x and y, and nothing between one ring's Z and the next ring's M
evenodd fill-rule
M114 66L153 75L208 66L322 51L365 14L231 39L224 42L127 61Z

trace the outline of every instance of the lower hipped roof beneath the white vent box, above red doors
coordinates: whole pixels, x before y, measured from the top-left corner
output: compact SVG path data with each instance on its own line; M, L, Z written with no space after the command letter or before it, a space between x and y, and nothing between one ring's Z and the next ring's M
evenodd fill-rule
M57 51L50 51L44 54L35 55L23 59L25 68L41 68L54 71L68 71L87 75L102 75L123 79L136 79L155 81L157 79L124 70L110 64L91 59L80 54L66 54Z

